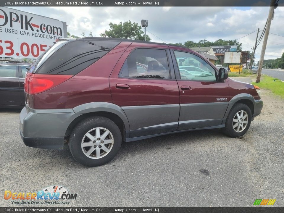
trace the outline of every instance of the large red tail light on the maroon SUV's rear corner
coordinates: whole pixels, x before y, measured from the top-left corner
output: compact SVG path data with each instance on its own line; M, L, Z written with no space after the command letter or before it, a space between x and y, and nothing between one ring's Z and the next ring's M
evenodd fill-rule
M71 78L72 75L46 75L27 73L24 90L26 93L35 95L49 90Z

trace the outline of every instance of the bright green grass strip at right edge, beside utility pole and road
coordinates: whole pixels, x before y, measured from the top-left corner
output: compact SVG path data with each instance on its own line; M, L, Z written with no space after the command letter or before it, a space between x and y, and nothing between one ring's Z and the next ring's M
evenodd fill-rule
M284 98L284 82L277 78L262 75L259 83L252 82L253 85L259 86L260 89L266 88L271 90L275 95Z

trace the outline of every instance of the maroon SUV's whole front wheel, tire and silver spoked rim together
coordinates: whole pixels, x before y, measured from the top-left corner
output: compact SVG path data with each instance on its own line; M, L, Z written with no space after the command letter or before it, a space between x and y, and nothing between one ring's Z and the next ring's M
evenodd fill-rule
M244 135L250 125L251 109L246 104L237 103L230 110L222 131L225 135L235 138Z

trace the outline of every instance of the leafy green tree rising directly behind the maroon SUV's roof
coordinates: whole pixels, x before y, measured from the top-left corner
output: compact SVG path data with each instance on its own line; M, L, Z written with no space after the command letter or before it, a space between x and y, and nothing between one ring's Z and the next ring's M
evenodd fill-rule
M145 34L142 27L138 23L126 21L120 22L119 24L109 23L109 30L105 30L100 35L106 35L110 38L125 38L145 41ZM146 35L146 41L151 41L149 35Z

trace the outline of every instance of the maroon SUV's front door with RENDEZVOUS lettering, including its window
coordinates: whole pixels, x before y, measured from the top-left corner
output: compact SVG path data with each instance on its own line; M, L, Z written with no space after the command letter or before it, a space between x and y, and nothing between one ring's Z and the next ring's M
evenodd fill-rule
M178 130L220 127L230 97L226 81L197 53L171 50L180 92Z

